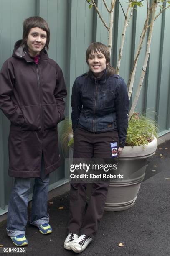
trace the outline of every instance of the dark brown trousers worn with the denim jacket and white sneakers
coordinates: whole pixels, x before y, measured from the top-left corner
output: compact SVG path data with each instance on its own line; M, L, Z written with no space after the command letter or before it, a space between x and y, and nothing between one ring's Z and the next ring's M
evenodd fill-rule
M91 133L78 127L74 132L73 158L109 159L112 157L110 143L118 141L117 131ZM108 187L109 182L93 183L86 207L86 184L71 183L68 233L95 237L103 215Z

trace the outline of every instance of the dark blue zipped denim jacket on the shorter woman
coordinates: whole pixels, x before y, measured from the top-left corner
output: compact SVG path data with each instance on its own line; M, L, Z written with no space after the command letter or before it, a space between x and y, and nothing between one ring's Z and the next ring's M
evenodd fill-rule
M127 86L118 75L96 78L92 72L77 77L71 97L72 127L77 125L94 133L117 130L119 146L127 134L129 97Z

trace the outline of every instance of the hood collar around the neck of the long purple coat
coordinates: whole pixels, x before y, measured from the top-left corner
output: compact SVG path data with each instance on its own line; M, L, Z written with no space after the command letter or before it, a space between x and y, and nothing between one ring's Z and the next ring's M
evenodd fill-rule
M15 58L25 59L27 62L34 62L34 60L30 57L30 55L26 51L25 47L20 46L21 42L22 42L22 40L18 40L15 43L12 56L15 57ZM48 54L47 54L46 50L43 49L40 52L40 60L46 60L46 59L48 59Z

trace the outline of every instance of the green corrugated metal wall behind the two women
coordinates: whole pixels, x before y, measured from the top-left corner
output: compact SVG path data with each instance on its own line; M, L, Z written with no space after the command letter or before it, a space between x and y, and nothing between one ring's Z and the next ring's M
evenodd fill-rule
M106 0L110 5L111 0ZM122 1L121 1L122 2ZM101 0L96 0L105 21L109 23L107 11ZM145 2L143 2L145 3ZM124 1L123 8L127 3ZM116 66L119 45L124 23L124 15L116 4L114 8L114 32L111 59ZM127 37L124 43L120 75L128 81L135 50L145 19L146 6L134 11L133 18L127 27ZM159 10L158 10L159 11ZM107 30L101 23L94 9L89 10L85 0L0 0L0 67L11 56L15 41L22 36L22 23L29 16L39 15L47 20L51 30L49 56L56 60L63 70L66 79L68 97L66 100L66 115L71 113L70 98L74 79L86 72L85 61L87 46L92 41L107 44ZM150 59L144 86L137 105L139 112L156 111L155 118L160 126L160 133L170 131L170 51L169 25L170 10L155 21ZM141 51L138 65L142 67L144 49ZM138 67L139 67L138 66ZM134 91L137 89L141 68L137 69L134 81ZM134 93L133 93L134 97ZM8 133L9 121L0 112L0 214L7 210L13 179L8 177ZM59 125L61 136L62 123ZM64 166L64 163L63 163ZM64 167L51 174L50 189L66 182Z

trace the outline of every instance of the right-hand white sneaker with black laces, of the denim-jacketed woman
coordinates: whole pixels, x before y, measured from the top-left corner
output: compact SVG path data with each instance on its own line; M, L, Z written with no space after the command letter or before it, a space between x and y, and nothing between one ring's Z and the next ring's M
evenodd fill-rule
M75 253L81 253L86 249L92 238L87 235L81 235L79 238L71 242L70 247Z

